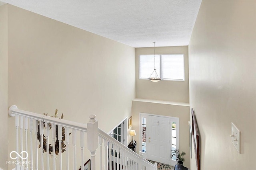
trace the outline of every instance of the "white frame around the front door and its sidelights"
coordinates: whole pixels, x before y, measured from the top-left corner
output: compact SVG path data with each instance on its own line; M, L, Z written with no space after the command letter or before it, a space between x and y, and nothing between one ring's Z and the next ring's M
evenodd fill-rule
M171 144L172 142L172 122L173 120L176 121L176 149L179 149L179 144L180 144L180 141L179 141L179 138L180 138L180 135L179 135L179 132L180 132L180 118L179 117L171 117L171 116L165 116L165 115L156 115L156 114L151 114L151 113L142 113L140 112L139 113L139 126L140 126L140 140L139 140L139 151L142 151L142 117L145 117L146 118L146 127L148 125L148 115L151 115L151 116L157 116L157 117L167 117L169 118L169 145ZM170 155L170 159L169 159L169 165L172 165L174 166L177 162L176 160L172 160L171 158L171 152L172 150L172 145L169 146L169 155ZM146 153L143 153L143 158L145 159L148 159L148 130L146 128Z

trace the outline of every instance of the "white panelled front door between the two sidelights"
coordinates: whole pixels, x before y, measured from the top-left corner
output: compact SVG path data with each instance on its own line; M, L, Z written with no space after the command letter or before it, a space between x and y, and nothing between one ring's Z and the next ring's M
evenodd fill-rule
M148 115L148 159L169 164L169 118Z

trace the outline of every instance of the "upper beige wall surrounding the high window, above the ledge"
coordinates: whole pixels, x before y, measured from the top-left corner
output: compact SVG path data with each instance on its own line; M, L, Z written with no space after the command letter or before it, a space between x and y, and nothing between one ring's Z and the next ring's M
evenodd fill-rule
M162 80L154 83L139 79L139 55L154 55L154 48L136 48L136 98L189 103L188 46L156 47L155 51L156 54L184 54L185 81Z

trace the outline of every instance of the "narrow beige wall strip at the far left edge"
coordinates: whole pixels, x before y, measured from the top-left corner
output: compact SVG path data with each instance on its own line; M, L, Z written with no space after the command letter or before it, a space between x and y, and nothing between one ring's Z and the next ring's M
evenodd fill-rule
M7 169L8 5L0 6L0 168Z

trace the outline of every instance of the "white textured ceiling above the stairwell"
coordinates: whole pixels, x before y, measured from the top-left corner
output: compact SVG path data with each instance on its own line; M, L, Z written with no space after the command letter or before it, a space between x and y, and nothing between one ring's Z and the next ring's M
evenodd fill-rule
M188 45L201 0L1 0L132 47Z

